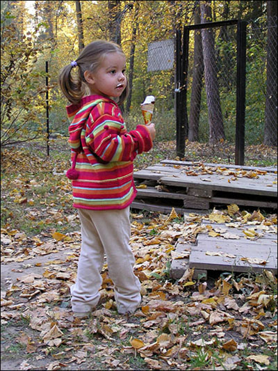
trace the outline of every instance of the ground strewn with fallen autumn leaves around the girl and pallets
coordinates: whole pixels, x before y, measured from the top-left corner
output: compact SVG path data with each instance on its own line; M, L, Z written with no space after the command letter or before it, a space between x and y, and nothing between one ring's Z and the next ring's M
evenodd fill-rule
M136 168L174 158L171 148L161 143L138 158ZM63 175L70 162L63 145L49 158L41 150L4 150L1 157L1 370L277 369L277 278L270 271L218 272L204 281L188 270L177 281L170 278L177 239L193 242L196 226L211 212L183 219L132 210L142 305L134 315L117 313L105 265L97 310L89 319L74 319L69 287L81 235ZM263 148L258 151L263 157ZM275 151L272 157L265 151L268 158L257 166L270 158L275 163ZM196 144L186 159L229 161L219 153ZM245 210L219 213L248 221ZM257 211L248 218L277 228L277 214Z

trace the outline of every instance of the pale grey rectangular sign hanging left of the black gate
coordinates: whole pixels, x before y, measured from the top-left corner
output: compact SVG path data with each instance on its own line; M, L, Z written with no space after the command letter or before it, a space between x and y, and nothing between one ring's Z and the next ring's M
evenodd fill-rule
M148 45L147 72L171 70L174 65L174 39L151 42Z

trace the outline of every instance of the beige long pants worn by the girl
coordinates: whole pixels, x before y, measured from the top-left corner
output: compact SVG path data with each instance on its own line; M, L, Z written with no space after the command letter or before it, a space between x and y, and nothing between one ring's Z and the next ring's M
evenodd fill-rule
M88 312L97 306L101 287L101 269L106 255L109 277L115 287L119 313L138 308L140 281L133 273L135 259L129 246L129 207L124 210L79 209L81 254L76 283L71 287L72 310Z

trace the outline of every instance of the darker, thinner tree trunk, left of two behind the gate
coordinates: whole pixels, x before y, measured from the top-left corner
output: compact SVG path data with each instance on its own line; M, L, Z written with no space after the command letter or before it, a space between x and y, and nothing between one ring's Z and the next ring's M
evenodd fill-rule
M194 22L201 22L199 1L195 8ZM197 141L199 136L199 113L202 97L202 79L204 74L204 61L202 51L202 35L200 30L194 31L194 65L193 81L190 99L190 115L188 125L188 141Z

